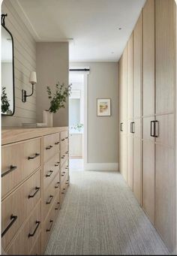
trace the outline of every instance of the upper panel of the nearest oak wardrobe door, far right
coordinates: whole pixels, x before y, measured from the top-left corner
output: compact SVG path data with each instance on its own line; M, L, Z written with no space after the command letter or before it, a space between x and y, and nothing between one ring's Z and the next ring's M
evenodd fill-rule
M174 111L175 1L155 0L156 113Z

